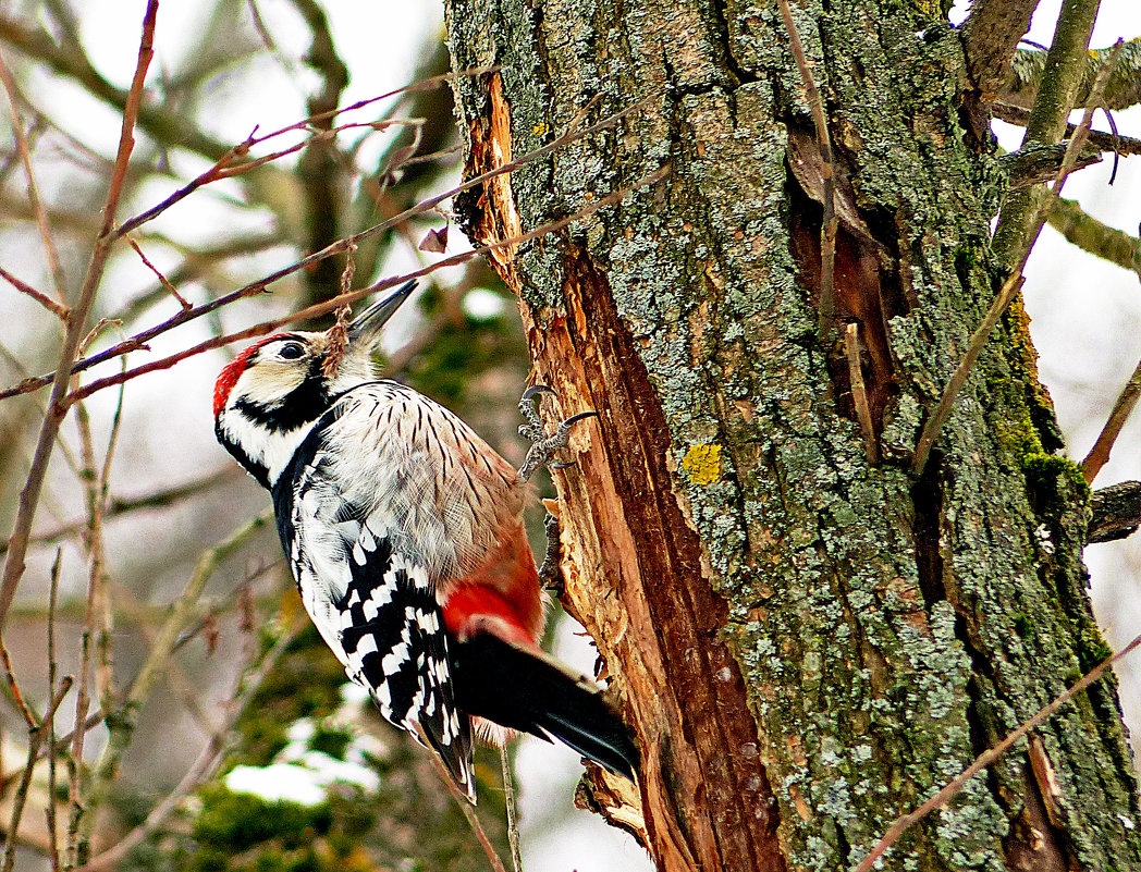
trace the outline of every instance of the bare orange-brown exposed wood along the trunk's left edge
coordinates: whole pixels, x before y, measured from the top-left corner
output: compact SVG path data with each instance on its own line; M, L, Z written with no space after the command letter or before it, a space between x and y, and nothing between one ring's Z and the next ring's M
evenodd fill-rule
M497 78L487 95L492 123L471 127L472 173L510 160L510 143L497 138L510 130ZM485 189L477 203L474 239L519 232L509 185ZM518 291L512 260L495 267ZM559 476L570 508L561 512L569 557L564 605L597 639L601 657L623 664L614 684L639 745L649 749L641 813L650 842L670 870L783 870L756 725L737 662L718 639L728 609L672 495L658 401L605 276L575 250L565 255L564 273L566 316L537 329L525 310L536 361L564 364L541 363L537 381L555 387L564 412L593 409L601 421L591 443L575 437L590 450ZM584 579L583 567L597 576Z

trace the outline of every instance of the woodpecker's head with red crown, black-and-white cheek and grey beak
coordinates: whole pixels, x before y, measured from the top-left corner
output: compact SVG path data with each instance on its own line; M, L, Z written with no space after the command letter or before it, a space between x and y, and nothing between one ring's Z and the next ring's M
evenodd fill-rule
M408 282L358 315L348 325L347 345L332 330L277 333L222 368L215 382L215 433L258 482L272 486L333 401L373 378L372 348L415 285ZM334 366L331 355L339 357Z

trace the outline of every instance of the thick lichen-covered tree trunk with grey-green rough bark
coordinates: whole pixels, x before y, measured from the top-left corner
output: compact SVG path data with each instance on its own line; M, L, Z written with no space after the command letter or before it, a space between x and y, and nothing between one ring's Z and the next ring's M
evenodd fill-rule
M775 3L448 0L455 67L500 66L458 86L469 173L549 142L594 95L604 112L648 100L461 202L477 241L671 170L496 258L536 380L564 414L600 414L556 476L564 599L637 734L663 870L847 869L1107 654L1087 491L1054 453L1018 304L911 471L1005 277L988 250L1002 180L958 112L965 60L937 6L794 8L837 175L822 341L823 164ZM592 801L615 802L594 781ZM1141 869L1134 788L1109 679L887 866Z

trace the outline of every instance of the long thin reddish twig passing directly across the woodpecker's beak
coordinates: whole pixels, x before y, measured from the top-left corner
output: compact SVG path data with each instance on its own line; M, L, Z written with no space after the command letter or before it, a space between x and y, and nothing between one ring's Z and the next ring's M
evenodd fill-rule
M138 378L139 376L145 376L148 372L155 372L156 370L169 369L175 364L185 361L188 357L202 354L203 352L209 352L213 348L220 348L221 346L229 345L230 342L236 342L242 339L252 339L253 337L264 336L272 330L276 330L277 328L283 326L284 324L290 324L297 321L306 321L308 318L314 318L321 315L325 315L330 312L340 308L341 306L355 302L356 300L359 300L363 297L367 297L370 294L377 293L382 290L387 290L389 288L395 288L396 285L403 284L412 278L419 278L421 276L429 275L448 266L456 266L458 264L471 260L472 258L478 257L480 255L486 255L491 251L510 249L511 247L519 245L524 242L528 242L540 236L545 236L548 234L555 233L557 231L563 229L569 224L574 224L575 221L580 221L583 218L593 215L599 209L604 209L608 205L614 205L615 203L622 201L638 188L662 180L669 175L669 172L670 172L669 168L663 168L657 172L650 173L649 176L645 176L638 179L629 188L622 188L621 191L607 194L606 196L600 197L599 200L588 203L585 207L583 207L574 215L567 216L566 218L560 218L557 221L551 221L550 224L544 224L534 231L529 231L528 233L523 233L518 236L512 236L511 239L503 240L501 242L494 242L487 245L482 245L478 249L472 249L471 251L464 251L459 255L453 255L452 257L438 260L435 264L423 267L421 269L414 269L411 273L405 273L404 275L394 276L391 278L385 278L369 288L362 288L359 290L351 291L347 294L338 294L337 297L333 297L323 302L317 302L314 304L313 306L308 306L307 308L294 312L291 315L285 315L280 318L273 318L270 321L264 321L260 324L254 324L253 326L246 328L245 330L238 330L237 332L234 333L228 333L226 336L208 339L203 342L200 342L199 345L192 346L191 348L186 348L168 357L163 357L161 360L153 361L151 363L145 363L140 366L136 366L135 369L128 370L127 372L120 373L119 376L107 376L103 379L97 379L96 381L86 385L79 390L73 391L68 397L68 402L76 402L79 399L83 399L86 397L91 396L91 394L95 394L98 390L103 390L104 388L113 387L115 385L121 385L124 381L130 381L131 379Z

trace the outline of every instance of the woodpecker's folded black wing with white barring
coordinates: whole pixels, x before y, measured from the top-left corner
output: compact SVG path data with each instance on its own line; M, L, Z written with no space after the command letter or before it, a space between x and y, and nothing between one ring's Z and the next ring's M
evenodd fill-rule
M306 611L348 677L387 720L427 742L475 801L471 727L455 707L434 579L367 489L338 471L343 447L333 443L343 425L359 423L342 419L369 409L349 399L322 417L274 485L282 546Z

